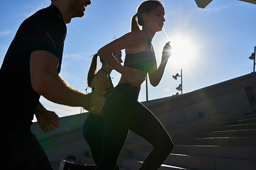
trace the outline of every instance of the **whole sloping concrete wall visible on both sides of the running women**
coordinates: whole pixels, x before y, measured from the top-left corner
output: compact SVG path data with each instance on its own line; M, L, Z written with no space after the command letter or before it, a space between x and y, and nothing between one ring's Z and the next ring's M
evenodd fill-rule
M247 91L246 91L247 89ZM248 91L249 89L249 91ZM256 73L214 84L187 94L143 102L164 126L256 110ZM31 130L51 162L90 149L82 137L88 113L62 117L60 128L43 133L35 122Z

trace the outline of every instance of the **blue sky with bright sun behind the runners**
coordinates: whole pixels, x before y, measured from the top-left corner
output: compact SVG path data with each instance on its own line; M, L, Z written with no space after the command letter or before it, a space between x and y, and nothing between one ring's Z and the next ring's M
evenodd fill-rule
M85 92L91 56L102 46L130 31L130 19L142 1L91 0L83 18L67 24L63 64L60 76L79 91ZM164 29L170 37L174 55L169 59L162 81L148 86L148 99L176 94L180 79L171 75L183 69L183 93L236 78L253 71L248 59L256 46L256 5L236 0L213 0L199 8L193 0L162 0L165 8ZM0 2L0 63L19 25L31 14L49 6L50 0ZM156 33L154 46L158 65L168 37ZM122 51L123 58L125 53ZM100 66L99 66L100 67ZM114 86L120 74L112 72ZM89 90L90 92L90 90ZM23 96L20 96L23 97ZM146 100L145 83L139 101ZM47 109L60 117L80 113L80 108L51 103L41 97Z

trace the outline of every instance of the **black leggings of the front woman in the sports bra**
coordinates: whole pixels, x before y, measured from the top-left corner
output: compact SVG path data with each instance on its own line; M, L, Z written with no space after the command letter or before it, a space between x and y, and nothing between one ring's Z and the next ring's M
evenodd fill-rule
M137 87L123 83L116 86L106 98L102 111L102 152L97 170L115 168L129 129L154 147L140 169L158 169L174 148L166 129L150 110L138 102L138 95Z

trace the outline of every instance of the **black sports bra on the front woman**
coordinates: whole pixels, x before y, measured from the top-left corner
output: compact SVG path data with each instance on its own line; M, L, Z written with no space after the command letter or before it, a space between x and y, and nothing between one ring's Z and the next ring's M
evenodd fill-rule
M154 52L149 37L147 37L146 50L139 53L126 54L123 66L132 67L148 73L154 66Z

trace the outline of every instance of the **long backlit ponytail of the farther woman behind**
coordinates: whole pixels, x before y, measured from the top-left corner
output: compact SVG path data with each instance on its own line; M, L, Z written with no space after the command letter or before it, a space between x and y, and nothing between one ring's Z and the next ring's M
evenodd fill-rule
M88 71L88 75L87 75L87 86L90 88L92 87L92 80L94 78L94 75L96 74L97 71L97 65L98 65L98 54L94 54L93 58L92 58L92 62L90 63L90 69ZM100 62L102 64L104 64L105 62L103 61L103 59L100 58Z

